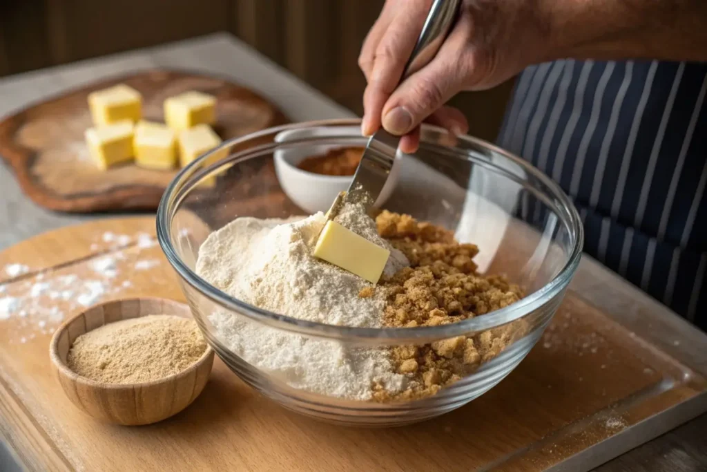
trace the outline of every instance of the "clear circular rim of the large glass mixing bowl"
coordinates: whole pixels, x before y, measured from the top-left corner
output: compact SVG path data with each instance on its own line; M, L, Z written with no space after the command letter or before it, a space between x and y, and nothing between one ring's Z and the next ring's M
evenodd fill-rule
M197 292L204 295L214 303L220 305L222 308L236 311L238 314L246 316L252 321L257 321L258 323L262 323L273 328L286 330L291 333L315 336L317 338L373 344L385 344L385 340L395 340L396 344L420 343L421 341L424 342L426 339L438 340L443 338L453 338L455 336L468 335L471 332L478 333L491 328L498 328L499 326L503 326L507 323L522 318L523 316L527 316L533 311L542 308L544 304L549 303L549 301L557 297L561 294L561 292L563 292L564 289L566 289L574 275L575 270L577 270L582 255L584 231L577 209L575 209L569 197L563 192L563 190L561 190L561 188L559 188L559 185L554 183L542 172L531 166L530 163L527 163L519 157L514 156L508 151L486 142L483 139L468 135L458 136L457 139L472 143L475 146L480 146L481 148L486 148L493 153L501 154L506 159L510 159L514 163L518 164L518 166L521 166L525 172L532 175L534 178L541 180L542 183L550 190L551 196L554 197L554 200L559 202L559 205L565 210L565 214L568 217L566 219L568 219L568 221L563 221L563 223L568 224L569 229L575 234L575 241L571 248L568 260L554 279L545 284L541 289L527 295L527 297L510 306L506 306L503 309L493 311L492 313L484 316L477 316L443 326L421 326L416 328L359 328L353 326L329 325L326 323L303 321L298 318L259 309L257 306L247 304L245 301L231 297L226 294L226 292L222 292L216 287L213 287L209 284L209 282L206 282L206 280L199 277L196 272L191 270L182 261L182 258L180 258L177 254L170 238L170 224L172 218L175 216L176 210L178 209L178 206L176 205L177 202L175 202L175 195L185 187L185 183L187 183L187 180L192 176L192 173L194 173L193 169L195 167L200 166L204 160L209 159L209 156L225 147L230 147L234 144L241 144L243 142L264 137L269 134L277 134L279 132L288 131L291 129L354 125L360 126L361 119L316 120L271 127L242 137L229 139L206 154L199 156L198 159L195 159L192 163L189 163L185 168L182 168L182 170L177 173L175 178L173 178L166 188L157 210L158 242L160 243L160 246L169 263L177 271L177 274L182 277L182 280L186 281L192 288L196 289ZM441 127L424 124L421 139L426 131L443 134L447 133L447 130ZM311 139L312 141L316 141L317 138L321 137L314 136ZM276 147L279 144L273 142L269 145ZM223 166L224 163L230 163L231 161L243 159L244 155L247 156L252 153L252 151L263 151L263 149L262 146L255 146L255 148L252 149L244 149L243 151L238 151L237 153L228 156L225 160L212 164L212 166L216 166L216 168L218 168ZM476 161L474 156L469 155L460 155L457 159ZM190 183L191 186L188 189L184 189L185 195L192 190L195 183L196 182Z

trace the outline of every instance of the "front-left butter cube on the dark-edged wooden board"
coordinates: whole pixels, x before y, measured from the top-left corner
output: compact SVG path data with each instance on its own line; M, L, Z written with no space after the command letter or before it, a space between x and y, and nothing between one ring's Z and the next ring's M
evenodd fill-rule
M130 120L86 129L88 151L103 170L132 161L133 124Z

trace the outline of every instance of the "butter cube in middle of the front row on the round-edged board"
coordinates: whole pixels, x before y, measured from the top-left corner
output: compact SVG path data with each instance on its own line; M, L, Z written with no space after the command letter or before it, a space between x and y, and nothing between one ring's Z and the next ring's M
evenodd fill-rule
M171 169L177 166L175 132L162 123L138 122L133 146L135 163L138 166L153 169Z

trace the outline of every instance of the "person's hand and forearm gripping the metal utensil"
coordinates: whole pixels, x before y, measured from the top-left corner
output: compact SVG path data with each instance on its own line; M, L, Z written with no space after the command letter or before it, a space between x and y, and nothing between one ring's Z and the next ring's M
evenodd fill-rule
M396 88L432 0L387 0L358 63L368 86L363 133L385 127L414 151L419 123L464 132L443 104L554 59L707 61L707 0L465 0L433 61Z

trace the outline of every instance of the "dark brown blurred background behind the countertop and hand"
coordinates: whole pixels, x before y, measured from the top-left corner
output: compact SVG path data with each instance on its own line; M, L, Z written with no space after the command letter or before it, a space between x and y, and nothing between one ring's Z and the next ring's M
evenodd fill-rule
M0 0L0 76L228 31L361 113L356 59L383 0ZM512 84L452 103L495 139Z

